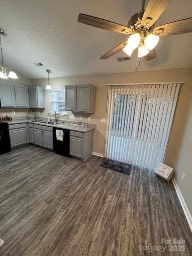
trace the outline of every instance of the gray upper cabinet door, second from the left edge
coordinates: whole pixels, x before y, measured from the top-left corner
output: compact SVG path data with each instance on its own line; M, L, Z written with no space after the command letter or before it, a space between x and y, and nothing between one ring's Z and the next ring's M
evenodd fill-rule
M29 107L28 86L15 84L16 106L20 108Z

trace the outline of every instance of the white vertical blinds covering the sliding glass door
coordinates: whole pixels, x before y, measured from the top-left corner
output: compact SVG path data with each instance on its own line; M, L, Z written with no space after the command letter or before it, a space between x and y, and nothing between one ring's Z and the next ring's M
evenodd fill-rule
M163 161L180 83L110 85L108 158L154 170Z

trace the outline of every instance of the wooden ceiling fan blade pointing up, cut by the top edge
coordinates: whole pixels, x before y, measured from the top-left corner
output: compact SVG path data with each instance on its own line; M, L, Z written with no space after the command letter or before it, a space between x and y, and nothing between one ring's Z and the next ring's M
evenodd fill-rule
M171 0L149 0L141 21L142 26L150 27L161 16Z

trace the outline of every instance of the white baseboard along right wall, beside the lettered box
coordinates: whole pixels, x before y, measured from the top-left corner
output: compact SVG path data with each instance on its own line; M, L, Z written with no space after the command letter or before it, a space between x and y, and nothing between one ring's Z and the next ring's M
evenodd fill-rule
M180 191L180 189L179 189L179 187L178 187L178 184L177 184L177 182L176 182L176 180L175 180L174 177L172 178L172 182L173 182L173 186L174 186L174 188L175 188L175 190L176 190L176 193L177 193L177 196L178 196L178 198L179 198L180 204L181 204L181 206L182 206L182 209L183 209L183 211L184 211L184 214L185 214L185 216L186 216L187 222L188 222L189 227L190 227L191 232L192 232L192 216L191 216L191 214L190 214L190 212L189 212L189 210L188 210L188 207L187 207L187 205L186 205L186 202L185 202L185 200L184 200L184 198L183 198L183 196L182 196L182 194L181 194L181 191Z

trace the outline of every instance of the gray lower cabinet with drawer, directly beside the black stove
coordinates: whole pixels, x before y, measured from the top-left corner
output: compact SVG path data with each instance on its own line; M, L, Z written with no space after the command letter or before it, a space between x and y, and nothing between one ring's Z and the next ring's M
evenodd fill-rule
M9 126L11 147L27 144L26 124L12 124Z

